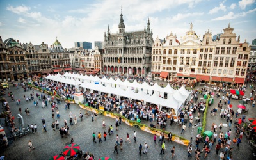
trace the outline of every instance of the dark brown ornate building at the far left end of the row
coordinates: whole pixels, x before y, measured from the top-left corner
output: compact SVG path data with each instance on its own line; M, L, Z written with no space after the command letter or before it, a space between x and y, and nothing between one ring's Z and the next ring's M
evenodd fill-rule
M26 54L19 40L9 38L4 41L7 49L7 58L10 68L10 80L17 81L18 79L28 78L28 65L26 63ZM9 81L9 79L8 79Z

